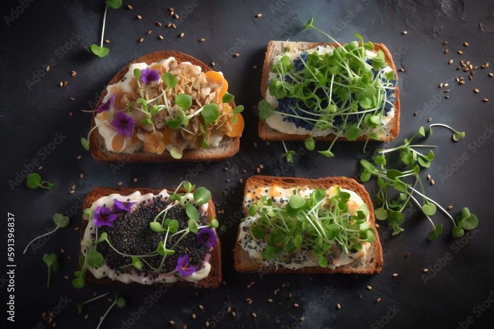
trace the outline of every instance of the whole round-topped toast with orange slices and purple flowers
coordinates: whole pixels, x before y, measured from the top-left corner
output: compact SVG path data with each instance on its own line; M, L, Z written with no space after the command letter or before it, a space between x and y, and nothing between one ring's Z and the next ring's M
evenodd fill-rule
M82 145L102 162L219 161L239 150L243 106L220 72L176 51L146 54L103 91Z

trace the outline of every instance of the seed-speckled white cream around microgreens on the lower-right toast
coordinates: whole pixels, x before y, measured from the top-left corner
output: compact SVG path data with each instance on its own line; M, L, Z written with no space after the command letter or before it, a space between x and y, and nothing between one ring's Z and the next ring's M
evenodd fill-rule
M280 186L264 186L259 187L255 191L251 191L247 193L244 198L244 204L248 209L251 205L251 200L256 196L268 196L270 197L278 206L283 206L288 204L288 200L290 195L293 194L294 188L282 188ZM358 209L364 201L362 198L352 190L340 188L341 191L350 193L350 199L347 202L349 209ZM267 191L267 192L266 192ZM308 197L312 193L313 189L305 188L299 189L298 194L303 197ZM334 186L330 187L326 193L328 197L332 196L336 193L336 188ZM283 202L282 202L283 200ZM249 202L250 201L250 202ZM259 218L259 215L249 216L243 222L240 223L240 235L238 239L238 243L241 244L242 248L249 254L250 257L254 259L262 259L262 251L267 248L267 243L260 240L250 239L250 225ZM369 215L367 216L367 221L369 221ZM244 229L244 227L246 229ZM246 244L246 241L247 244ZM333 255L333 259L331 263L328 263L328 268L335 269L336 267L348 265L351 263L356 263L359 261L363 261L367 259L367 250L371 247L369 242L361 242L362 249L357 251L356 253L344 254L341 250L338 249L335 255ZM255 248L254 248L255 247ZM300 259L301 261L295 262L294 260L289 260L286 262L276 262L276 265L281 265L290 269L299 269L308 266L320 266L317 258L309 254L307 251L303 252L301 250L295 250L293 253L293 257L291 259ZM270 265L271 263L267 260L263 260L263 264L265 266Z

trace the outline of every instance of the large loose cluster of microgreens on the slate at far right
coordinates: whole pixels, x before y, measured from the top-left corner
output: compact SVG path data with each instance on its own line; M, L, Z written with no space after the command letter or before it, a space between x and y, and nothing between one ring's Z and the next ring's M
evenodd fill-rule
M440 124L437 124L440 125ZM471 215L467 208L462 212L461 216L456 218L456 221L451 215L439 205L436 201L425 195L424 186L420 178L420 167L429 168L431 161L434 159L434 153L429 150L427 155L415 150L418 147L437 147L433 145L412 144L412 141L418 136L425 137L424 127L420 127L419 131L412 138L405 139L401 146L376 149L373 157L373 162L361 159L363 171L360 175L362 182L367 182L372 176L377 177L377 186L379 190L376 193L376 203L378 208L374 210L376 219L386 220L388 225L393 228L392 235L403 232L400 224L405 220L402 212L406 207L411 207L412 203L416 204L422 210L424 216L429 220L433 227L432 233L428 236L429 241L437 239L439 233L443 230L443 224L436 226L431 219L431 216L436 214L437 210L441 210L447 217L453 221L453 237L462 236L463 229L473 229L477 227L478 220L474 215ZM454 138L454 137L453 137ZM409 170L400 171L397 169L386 169L386 153L399 151L400 159L404 165L409 166ZM401 169L401 168L400 168ZM412 181L412 182L411 182ZM409 183L411 182L411 183ZM417 190L417 184L420 190ZM389 190L393 187L395 191ZM422 199L422 203L417 200L414 195Z

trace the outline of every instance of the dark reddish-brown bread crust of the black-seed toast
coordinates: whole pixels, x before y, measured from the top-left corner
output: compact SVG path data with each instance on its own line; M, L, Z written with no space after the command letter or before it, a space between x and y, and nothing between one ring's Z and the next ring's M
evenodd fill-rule
M163 189L151 189L151 188L138 188L138 187L102 187L102 186L97 186L93 190L91 190L87 195L86 198L84 199L84 206L82 209L86 209L91 207L92 203L96 200L98 200L100 197L107 196L113 193L117 193L120 195L130 195L134 193L135 191L141 192L141 194L147 194L147 193L152 193L154 195L157 195L160 193ZM175 191L174 188L167 188L166 189L169 192ZM178 189L179 193L185 193L185 189L180 187ZM207 212L206 215L208 217L214 218L216 215L216 210L214 208L214 203L212 200L209 200L208 206L207 206ZM87 227L88 221L85 219L82 219L82 227L81 227L81 239L79 241L79 257L81 257L81 241L84 237L84 231ZM105 255L103 255L104 258ZM209 258L209 263L211 264L211 270L209 274L204 278L203 280L200 280L198 283L193 283L193 282L188 282L188 281L177 281L173 284L162 284L162 283L156 283L155 286L163 286L163 285L171 285L173 287L194 287L194 288L218 288L221 280L222 280L222 275L221 275L221 244L220 241L218 240L218 245L214 247L214 249L211 252L211 256ZM79 264L79 270L81 270L81 264ZM88 284L106 284L106 285L125 285L125 286L142 286L139 283L123 283L120 281L113 281L112 279L108 277L104 277L101 279L96 279L90 271L86 272L86 276L84 278L84 282Z

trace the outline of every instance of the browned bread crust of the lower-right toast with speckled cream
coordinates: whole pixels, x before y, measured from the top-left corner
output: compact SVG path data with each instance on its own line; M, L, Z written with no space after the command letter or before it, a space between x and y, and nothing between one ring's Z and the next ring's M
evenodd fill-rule
M247 251L238 243L240 237L240 227L237 235L237 243L235 244L235 269L239 272L263 272L263 273L301 273L301 274L316 274L316 273L346 273L346 274L377 274L381 271L382 248L379 242L379 235L375 229L374 208L372 206L371 197L364 186L357 183L354 179L346 177L325 177L317 180L294 177L273 177L273 176L253 176L247 179L245 191L256 190L259 187L277 185L282 188L296 188L304 186L310 189L314 188L329 188L333 185L338 185L341 188L349 189L357 193L369 208L369 226L375 232L375 240L371 243L371 247L367 251L367 260L360 261L357 264L343 265L335 269L321 266L307 266L301 269L292 270L283 266L275 265L264 266L260 260L250 257ZM248 212L244 203L244 216L248 217Z

